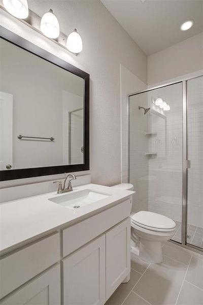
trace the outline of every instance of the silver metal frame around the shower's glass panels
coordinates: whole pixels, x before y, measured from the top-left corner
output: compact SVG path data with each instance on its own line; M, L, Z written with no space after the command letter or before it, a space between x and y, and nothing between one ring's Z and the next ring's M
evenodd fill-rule
M128 103L127 103L127 117L128 117L128 183L129 183L129 116L130 116L130 97L139 95L142 93L147 93L155 89L175 85L178 83L182 83L182 118L183 118L183 168L182 168L182 240L181 243L175 240L170 239L170 242L175 243L176 245L179 245L181 247L187 248L189 250L195 251L197 253L202 254L203 249L196 247L194 245L191 245L190 243L187 243L187 191L188 191L188 170L187 168L188 165L188 141L187 141L187 81L191 79L195 79L198 77L203 76L201 73L198 76L193 76L193 77L187 77L178 81L172 81L168 82L162 85L150 87L146 90L138 91L136 93L132 93L127 95Z

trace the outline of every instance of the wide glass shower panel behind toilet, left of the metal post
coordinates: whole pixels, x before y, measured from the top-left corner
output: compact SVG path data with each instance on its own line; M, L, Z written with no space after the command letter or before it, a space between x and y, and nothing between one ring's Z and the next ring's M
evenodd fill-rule
M129 182L132 211L148 210L176 222L182 242L182 82L129 97ZM170 107L156 105L157 99ZM140 106L140 107L139 107Z

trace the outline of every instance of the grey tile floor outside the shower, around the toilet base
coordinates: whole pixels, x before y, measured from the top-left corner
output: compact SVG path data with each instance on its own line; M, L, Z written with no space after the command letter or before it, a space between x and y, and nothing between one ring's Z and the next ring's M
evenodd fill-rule
M105 305L202 305L203 256L163 246L163 262L150 264L131 255L130 281Z

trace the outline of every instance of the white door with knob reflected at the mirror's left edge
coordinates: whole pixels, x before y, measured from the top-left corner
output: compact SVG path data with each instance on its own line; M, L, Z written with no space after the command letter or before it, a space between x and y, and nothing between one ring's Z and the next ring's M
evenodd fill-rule
M13 167L13 96L0 91L0 170Z

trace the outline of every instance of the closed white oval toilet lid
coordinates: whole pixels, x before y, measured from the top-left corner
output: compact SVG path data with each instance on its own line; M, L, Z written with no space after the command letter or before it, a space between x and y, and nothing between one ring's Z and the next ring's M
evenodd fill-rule
M149 211L140 211L131 215L131 221L140 227L152 228L152 230L159 229L164 231L176 227L176 223L172 219Z

